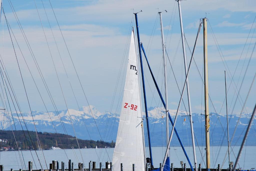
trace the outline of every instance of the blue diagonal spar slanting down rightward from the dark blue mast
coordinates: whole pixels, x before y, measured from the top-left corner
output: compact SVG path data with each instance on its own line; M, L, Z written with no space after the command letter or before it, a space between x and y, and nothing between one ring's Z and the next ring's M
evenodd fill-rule
M135 16L136 16L136 15L135 15ZM163 103L164 107L166 108L166 104L165 104L164 99L163 99L163 96L162 96L162 94L161 94L161 92L160 92L160 90L159 90L159 87L158 87L158 85L157 85L157 83L156 83L155 77L154 77L154 75L153 75L153 72L152 72L152 70L151 70L151 67L150 67L150 65L149 65L149 62L148 62L148 60L147 60L146 52L145 52L145 50L144 50L144 48L143 48L142 43L141 43L141 49L142 49L142 51L143 51L143 53L144 53L144 56L145 56L145 58L146 58L147 65L148 65L148 68L149 68L149 70L150 70L150 73L151 73L151 76L152 76L152 78L153 78L153 81L154 81L154 83L155 83L157 92L158 92L158 94L159 94L159 96L160 96L160 98L161 98L161 100L162 100L162 103ZM172 118L171 118L169 112L168 112L168 116L169 116L170 122L172 123L172 126L173 126L174 123L173 123L173 120L172 120ZM176 133L176 135L177 135L177 138L178 138L179 143L180 143L180 145L181 145L181 147L182 147L182 150L183 150L183 152L184 152L184 154L185 154L185 156L186 156L186 158L187 158L187 160L188 160L188 163L189 163L189 165L190 165L190 167L191 167L191 170L194 171L193 165L191 164L191 162L190 162L190 160L189 160L189 158L188 158L187 152L186 152L186 150L185 150L185 148L184 148L184 145L183 145L183 143L182 143L182 141L181 141L181 139L180 139L180 136L179 136L179 134L178 134L178 131L177 131L176 127L174 127L174 131L175 131L175 133Z

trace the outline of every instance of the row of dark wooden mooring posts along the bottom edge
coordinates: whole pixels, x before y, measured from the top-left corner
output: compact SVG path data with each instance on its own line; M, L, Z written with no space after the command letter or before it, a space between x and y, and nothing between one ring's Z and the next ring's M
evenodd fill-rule
M99 170L99 171L112 171L112 162L106 162L105 168L102 168L102 163L100 162L100 168L96 169L96 162L89 162L89 168L84 169L83 163L78 163L78 169L74 169L74 163L71 163L71 160L68 162L68 168L65 169L65 163L61 162L61 165L58 161L52 161L50 163L49 171L56 170L56 171L74 171L74 170L85 170L85 171L92 171L93 170ZM183 164L183 161L180 162L182 168L175 168L175 170L178 171L187 171L190 170L190 168L187 169L186 163ZM162 166L162 163L160 163L160 168ZM28 171L32 171L33 162L28 162ZM132 164L132 170L135 171L135 164ZM233 169L233 162L230 162L229 168L223 169L227 171L231 171ZM152 168L148 167L148 163L146 163L146 171L151 171ZM201 164L199 164L198 171L203 171L204 169L201 168ZM4 166L0 165L0 171L4 171ZM11 171L14 171L11 169ZM23 171L22 169L19 169L19 171ZM39 169L39 171L43 171L42 169ZM121 171L123 171L123 163L121 163ZM173 163L171 164L170 171L174 171ZM216 168L216 171L220 171L220 164L218 164L218 167Z

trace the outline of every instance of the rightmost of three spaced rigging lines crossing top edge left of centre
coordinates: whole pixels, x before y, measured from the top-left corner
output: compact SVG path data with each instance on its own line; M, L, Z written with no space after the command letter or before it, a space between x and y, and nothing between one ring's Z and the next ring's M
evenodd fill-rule
M34 0L34 1L35 1L35 0ZM59 22L58 22L58 20L57 20L57 17L56 17L56 15L55 15L55 12L54 12L54 9L53 9L53 7L52 7L52 4L51 4L51 1L50 1L50 0L49 0L49 3L50 3L50 5L51 5L51 8L52 8L52 11L53 11L53 13L54 13L55 19L56 19L57 24L58 24L59 29L60 29ZM61 29L60 29L60 32L61 32L61 36L62 36L62 38L63 38L63 40L64 40L64 42L65 42L65 45L66 45L66 48L67 48L67 51L68 51L69 57L70 57L70 59L71 59L71 62L72 62L72 64L73 64L73 67L74 67L74 70L76 71L76 74L77 74L77 77L78 77L78 80L79 80L80 86L81 86L81 88L82 88L82 90L83 90L83 94L84 94L84 96L85 96L85 98L86 98L87 104L89 105L89 101L88 101L88 99L87 99L87 97L86 97L86 95L85 95L85 92L84 92L84 89L83 89L82 83L81 83L80 78L79 78L79 76L78 76L78 73L77 73L76 67L75 67L74 62L73 62L73 60L72 60L72 58L71 58L71 54L70 54L70 52L69 52L69 50L68 50L68 46L67 46L67 43L66 43L66 41L65 41L65 39L64 39L64 36L63 36L63 34L62 34ZM93 120L94 120L95 125L96 125L96 127L97 127L97 130L98 130L98 132L99 132L99 134L100 134L100 130L99 130L98 126L97 126L97 123L96 123L96 120L95 120L95 118L94 118L94 115L93 115L93 112L92 112L92 109L91 109L90 105L89 105L89 109L90 109L90 111L91 111L91 114L92 114ZM101 140L103 141L101 134L100 134L100 138L101 138ZM105 146L104 141L103 141L103 145ZM105 150L106 150L106 148L105 148ZM106 150L106 152L107 152L107 150ZM107 154L108 154L108 152L107 152ZM109 154L108 154L108 157L109 157ZM109 157L109 159L110 159L110 157Z

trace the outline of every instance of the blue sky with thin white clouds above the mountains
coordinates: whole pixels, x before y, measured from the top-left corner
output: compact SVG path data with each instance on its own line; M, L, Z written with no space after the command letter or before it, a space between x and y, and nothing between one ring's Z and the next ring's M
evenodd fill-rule
M120 101L122 101L125 79L123 73L126 72L131 27L135 26L133 13L140 10L142 12L138 13L138 23L141 41L146 48L148 60L161 89L163 89L164 83L158 12L167 10L167 12L162 12L165 45L179 88L181 89L184 84L185 71L182 42L180 42L179 12L177 2L174 0L27 0L25 2L3 0L5 16L10 25L9 29L12 29L14 34L13 36L11 32L22 77L3 15L0 23L0 54L4 58L6 70L23 112L29 112L30 110L22 78L31 110L46 111L47 109L51 111L54 110L54 107L14 17L10 2L13 5L58 110L67 109L67 107L78 109L78 107L81 108L88 105L76 75L77 71L90 105L95 106L102 112L120 111ZM54 9L76 71L49 2L51 2ZM225 114L226 106L225 103L224 105L222 104L225 100L224 71L226 70L229 88L227 94L228 108L229 112L231 112L236 99L234 90L236 86L237 90L240 87L253 45L256 41L254 35L256 24L253 23L256 15L256 2L253 0L187 0L181 1L181 8L184 33L188 42L188 45L186 45L188 62L191 58L189 48L192 51L194 47L200 19L208 18L209 94L213 104L209 105L209 111ZM196 65L194 62L192 63L189 75L191 108L192 112L198 113L204 112L204 89L200 77L200 74L203 74L202 31L200 32L194 55ZM60 53L58 53L56 44ZM233 113L241 111L241 106L247 97L255 74L255 56L256 54L252 55L247 74L244 77L239 100L237 100ZM167 72L169 75L168 104L170 109L177 109L180 94L170 69L170 64L167 62ZM148 107L161 106L145 63L144 70ZM234 77L232 79L233 74ZM232 84L230 84L231 80ZM70 84L76 98L73 96ZM2 82L1 85L3 86ZM248 113L252 111L255 105L255 89L256 87L253 85L248 96L246 103L246 111ZM164 94L164 91L162 93ZM187 93L184 94L184 102L186 109L188 109ZM182 105L181 110L185 110L185 107Z

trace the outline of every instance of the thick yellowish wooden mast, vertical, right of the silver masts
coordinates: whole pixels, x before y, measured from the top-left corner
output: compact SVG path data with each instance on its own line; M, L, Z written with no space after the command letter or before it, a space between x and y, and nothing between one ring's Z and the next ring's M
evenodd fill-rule
M205 78L205 150L206 150L206 168L210 170L210 119L208 104L208 62L207 62L207 18L204 23L204 78Z

